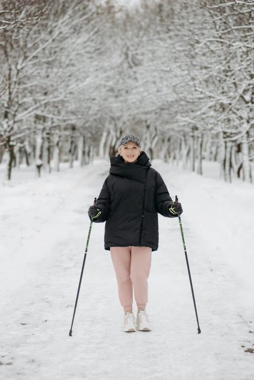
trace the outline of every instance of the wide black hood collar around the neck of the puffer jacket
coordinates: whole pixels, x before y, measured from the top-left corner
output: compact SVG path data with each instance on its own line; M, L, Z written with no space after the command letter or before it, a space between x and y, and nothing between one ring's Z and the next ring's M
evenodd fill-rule
M119 154L116 157L110 157L110 174L117 174L134 181L145 183L147 170L151 163L145 152L142 152L135 164L127 163Z

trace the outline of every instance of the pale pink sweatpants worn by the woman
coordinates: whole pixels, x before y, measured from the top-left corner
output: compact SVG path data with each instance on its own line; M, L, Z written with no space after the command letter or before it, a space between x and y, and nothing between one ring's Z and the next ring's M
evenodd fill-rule
M151 268L152 248L110 247L110 254L124 311L132 310L133 288L137 306L145 308L148 301L147 278Z

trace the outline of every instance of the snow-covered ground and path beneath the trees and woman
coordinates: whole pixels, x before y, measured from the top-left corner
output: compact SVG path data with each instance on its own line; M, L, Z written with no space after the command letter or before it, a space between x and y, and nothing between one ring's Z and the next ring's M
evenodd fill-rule
M96 160L0 185L1 380L253 379L254 354L245 350L254 348L254 187L152 165L182 202L201 334L178 219L159 216L147 304L153 330L122 331L105 224L94 224L69 337L87 210L109 171Z

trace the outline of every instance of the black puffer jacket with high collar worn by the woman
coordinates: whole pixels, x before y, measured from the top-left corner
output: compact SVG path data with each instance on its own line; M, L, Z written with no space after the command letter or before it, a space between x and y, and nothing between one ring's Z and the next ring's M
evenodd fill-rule
M94 223L106 221L105 249L133 245L157 251L158 212L174 217L168 210L173 201L161 175L151 168L145 152L135 164L126 163L120 155L110 157L110 164L96 203L101 215L93 219Z

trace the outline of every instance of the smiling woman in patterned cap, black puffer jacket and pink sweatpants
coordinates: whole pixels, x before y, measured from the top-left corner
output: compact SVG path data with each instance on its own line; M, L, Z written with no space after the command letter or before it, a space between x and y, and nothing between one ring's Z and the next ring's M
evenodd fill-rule
M141 331L151 326L145 310L151 256L159 243L158 212L165 217L182 213L172 201L161 175L153 168L134 135L121 139L119 155L110 157L106 178L96 206L89 208L93 222L105 222L104 247L110 250L120 303L124 308L124 331L136 331L132 311L133 288Z

